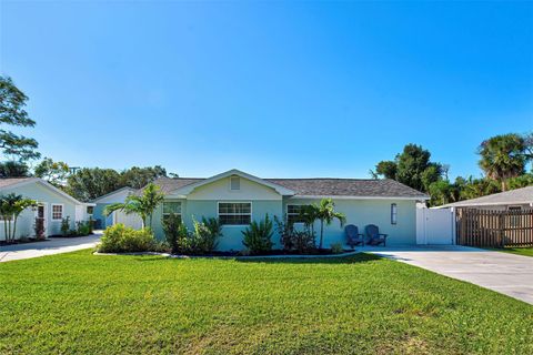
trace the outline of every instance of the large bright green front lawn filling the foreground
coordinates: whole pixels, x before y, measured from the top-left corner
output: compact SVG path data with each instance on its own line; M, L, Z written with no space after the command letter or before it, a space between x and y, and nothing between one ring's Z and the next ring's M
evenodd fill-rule
M361 254L0 264L1 354L532 354L533 306Z

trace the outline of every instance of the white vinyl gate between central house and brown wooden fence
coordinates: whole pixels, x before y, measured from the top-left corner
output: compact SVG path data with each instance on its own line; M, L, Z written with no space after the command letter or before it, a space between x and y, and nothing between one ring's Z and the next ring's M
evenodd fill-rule
M455 244L453 209L416 209L416 244Z

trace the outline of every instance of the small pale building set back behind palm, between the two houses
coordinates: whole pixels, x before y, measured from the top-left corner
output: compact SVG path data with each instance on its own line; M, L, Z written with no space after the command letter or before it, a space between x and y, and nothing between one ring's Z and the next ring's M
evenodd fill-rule
M141 221L134 215L125 215L124 213L120 213L119 211L115 211L108 216L103 214L103 210L107 206L113 203L123 203L125 201L125 197L137 192L138 190L125 186L92 200L91 203L94 203L93 219L95 221L95 227L105 229L117 223L124 223L131 226L140 226Z

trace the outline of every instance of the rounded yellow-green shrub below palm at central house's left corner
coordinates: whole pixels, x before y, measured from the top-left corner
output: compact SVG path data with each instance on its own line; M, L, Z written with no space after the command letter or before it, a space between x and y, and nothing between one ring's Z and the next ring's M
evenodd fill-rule
M158 243L150 229L135 231L123 224L105 229L98 251L101 253L137 253L158 250Z

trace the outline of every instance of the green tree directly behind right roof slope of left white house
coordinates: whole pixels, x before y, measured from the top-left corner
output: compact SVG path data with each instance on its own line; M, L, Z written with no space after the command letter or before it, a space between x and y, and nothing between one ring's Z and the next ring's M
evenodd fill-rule
M83 168L67 178L66 190L80 201L91 201L123 187L112 169Z

